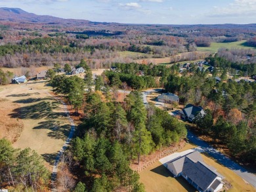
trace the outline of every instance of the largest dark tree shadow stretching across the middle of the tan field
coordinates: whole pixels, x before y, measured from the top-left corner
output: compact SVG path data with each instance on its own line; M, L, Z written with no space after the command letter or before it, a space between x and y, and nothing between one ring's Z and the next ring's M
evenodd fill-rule
M24 101L23 101L24 102ZM33 104L32 106L24 106L19 107L13 110L9 116L12 118L20 118L20 119L55 119L59 115L64 116L65 113L54 113L53 109L58 107L58 102L49 102L42 101L37 104Z

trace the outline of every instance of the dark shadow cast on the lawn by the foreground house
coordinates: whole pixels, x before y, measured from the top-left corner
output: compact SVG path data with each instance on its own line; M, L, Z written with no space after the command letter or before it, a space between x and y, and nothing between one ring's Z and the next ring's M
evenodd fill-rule
M153 168L150 171L155 172L156 174L160 174L161 176L164 176L166 178L168 177L174 178L173 174L171 174L171 172L169 172L169 170L165 166L163 166L163 164L161 164L160 166L157 166L156 168ZM189 191L189 192L197 191L184 178L182 178L182 176L180 176L179 178L175 178L175 180L177 180L177 182L179 182L182 185L182 187L186 189L186 191Z

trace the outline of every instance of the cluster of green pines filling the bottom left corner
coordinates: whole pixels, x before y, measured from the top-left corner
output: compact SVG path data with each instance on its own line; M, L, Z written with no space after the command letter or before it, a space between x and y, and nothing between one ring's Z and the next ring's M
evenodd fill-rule
M43 159L30 148L14 149L11 142L0 140L0 187L10 191L46 191L49 171Z

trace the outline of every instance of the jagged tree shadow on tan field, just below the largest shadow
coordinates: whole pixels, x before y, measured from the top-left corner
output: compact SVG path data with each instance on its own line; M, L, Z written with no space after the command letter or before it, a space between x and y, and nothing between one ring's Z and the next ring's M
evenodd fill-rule
M41 122L39 126L35 126L33 129L49 129L51 130L51 132L47 134L49 137L63 141L65 141L70 134L70 125L60 126L60 121L54 120Z

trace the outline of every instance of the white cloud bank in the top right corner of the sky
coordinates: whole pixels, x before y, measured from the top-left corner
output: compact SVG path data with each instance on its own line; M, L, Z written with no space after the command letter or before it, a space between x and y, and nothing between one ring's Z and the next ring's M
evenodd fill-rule
M234 0L228 7L213 7L213 14L210 16L256 16L255 0Z

